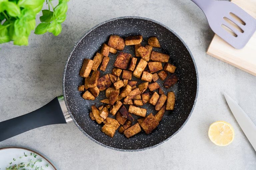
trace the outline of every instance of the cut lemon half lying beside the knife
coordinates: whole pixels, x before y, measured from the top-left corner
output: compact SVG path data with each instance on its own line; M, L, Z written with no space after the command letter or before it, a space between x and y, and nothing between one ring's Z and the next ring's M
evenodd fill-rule
M225 121L217 121L210 125L208 136L218 146L227 146L234 140L234 128Z

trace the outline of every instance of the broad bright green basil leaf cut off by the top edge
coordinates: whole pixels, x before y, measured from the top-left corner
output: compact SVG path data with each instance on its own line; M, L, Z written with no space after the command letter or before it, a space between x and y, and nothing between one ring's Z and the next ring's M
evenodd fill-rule
M44 0L19 0L18 5L23 8L33 9L38 13L43 7Z

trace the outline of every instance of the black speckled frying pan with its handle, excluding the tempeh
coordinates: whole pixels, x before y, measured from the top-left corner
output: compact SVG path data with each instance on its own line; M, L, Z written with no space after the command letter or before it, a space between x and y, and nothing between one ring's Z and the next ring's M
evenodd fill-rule
M100 106L100 100L105 98L104 91L94 100L84 100L77 87L83 84L83 78L79 71L84 58L93 58L100 50L102 43L107 42L110 35L127 37L131 35L142 35L142 45L146 45L147 38L157 36L161 48L153 50L170 55L169 63L177 66L176 75L178 82L169 89L162 87L162 81L158 80L165 94L173 91L176 95L176 103L173 111L166 111L163 120L149 135L140 132L131 138L123 134L115 133L111 138L101 132L102 125L98 125L89 118L90 107ZM134 47L126 46L124 52L134 56ZM110 62L106 73L111 73L116 55L110 54ZM134 78L139 81L139 79ZM63 73L63 97L54 98L42 108L0 123L0 141L23 133L33 128L45 125L65 124L71 120L90 139L108 148L122 151L137 151L155 147L173 137L187 122L190 117L198 93L198 76L193 56L181 40L168 27L154 20L141 17L120 17L105 21L84 34L84 36L73 47ZM64 103L65 102L65 103ZM155 114L153 107L149 104L143 106L149 113ZM127 108L127 105L126 105ZM63 114L64 113L64 114ZM133 122L135 124L136 121Z

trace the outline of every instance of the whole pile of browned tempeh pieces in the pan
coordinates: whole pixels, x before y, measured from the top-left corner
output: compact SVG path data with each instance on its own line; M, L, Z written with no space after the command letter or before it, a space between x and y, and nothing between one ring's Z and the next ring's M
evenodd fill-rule
M104 126L101 130L110 137L114 136L119 127L118 131L124 133L127 138L139 133L141 128L146 134L149 134L158 126L165 110L174 109L174 93L168 92L166 96L156 81L158 79L164 81L169 72L171 75L163 85L165 88L174 85L178 81L176 75L173 74L176 67L168 63L169 55L152 51L153 47L160 47L156 37L149 38L148 45L141 46L141 42L141 35L127 37L125 40L111 35L108 45L104 43L101 52L96 53L93 60L85 58L80 70L80 76L85 77L85 83L79 86L78 90L85 91L82 95L84 99L94 100L100 91L106 90L106 99L101 100L105 105L98 108L95 105L91 106L92 111L89 116L98 124L103 123ZM100 77L100 72L97 69L101 64L99 69L106 70L110 60L109 52L116 54L117 50L123 50L125 45L134 45L135 56L140 58L132 57L129 53L119 52L112 74ZM136 66L137 60L139 62ZM162 62L165 63L164 68ZM146 66L148 66L147 69ZM126 70L127 68L128 70ZM89 76L91 70L93 72ZM136 86L138 82L131 81L132 75L146 82ZM152 80L153 83L150 83ZM146 92L147 89L149 89L148 92ZM157 89L158 93L155 91ZM155 116L150 113L146 117L147 109L138 107L146 103L155 106L155 110L158 111ZM127 110L124 105L129 105L129 109ZM108 117L109 113L115 116L115 119ZM142 117L133 126L131 126L134 121L132 114Z

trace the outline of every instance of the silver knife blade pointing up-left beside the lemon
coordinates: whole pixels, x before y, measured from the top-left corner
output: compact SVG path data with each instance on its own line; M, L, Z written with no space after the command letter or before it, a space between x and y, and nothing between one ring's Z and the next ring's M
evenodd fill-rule
M256 126L242 108L229 95L224 93L224 96L231 112L236 118L236 121L256 151Z

